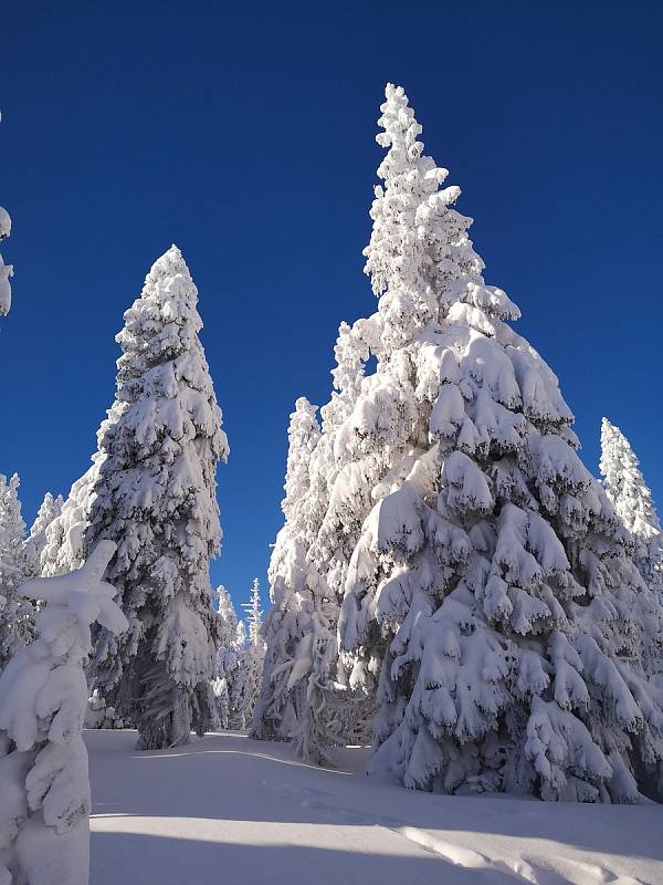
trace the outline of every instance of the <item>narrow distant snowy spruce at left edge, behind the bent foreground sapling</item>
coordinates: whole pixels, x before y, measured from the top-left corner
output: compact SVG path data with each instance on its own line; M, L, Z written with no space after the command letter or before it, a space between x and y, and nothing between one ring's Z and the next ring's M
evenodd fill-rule
M0 670L32 638L34 611L17 593L25 579L23 541L25 523L19 500L20 480L0 473Z

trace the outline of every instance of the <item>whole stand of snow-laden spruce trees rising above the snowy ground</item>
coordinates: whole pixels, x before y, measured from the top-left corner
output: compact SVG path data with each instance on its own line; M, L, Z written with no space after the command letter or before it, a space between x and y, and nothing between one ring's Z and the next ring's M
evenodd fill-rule
M177 247L125 313L66 500L27 531L0 475L0 881L85 881L84 720L139 749L249 730L318 763L371 739L369 772L432 792L663 798L663 535L638 459L604 419L589 472L402 87L379 126L377 309L340 324L329 402L290 416L264 623L259 579L244 621L210 584L229 446ZM24 846L54 834L83 854L49 878Z

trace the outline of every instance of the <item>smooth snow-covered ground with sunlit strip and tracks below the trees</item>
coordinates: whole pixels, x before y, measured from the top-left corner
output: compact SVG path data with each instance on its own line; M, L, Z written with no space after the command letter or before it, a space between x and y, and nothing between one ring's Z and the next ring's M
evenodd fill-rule
M91 885L661 885L663 806L413 793L238 732L87 731Z

